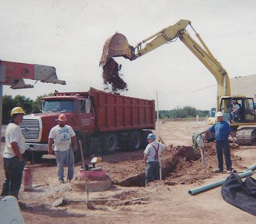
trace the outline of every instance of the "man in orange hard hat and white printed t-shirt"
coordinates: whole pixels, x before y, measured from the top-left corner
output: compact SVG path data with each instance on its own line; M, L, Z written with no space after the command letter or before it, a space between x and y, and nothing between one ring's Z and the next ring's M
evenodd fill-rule
M67 117L60 114L58 125L52 127L48 140L48 153L52 154L52 143L54 142L54 154L58 167L58 178L64 182L64 165L68 165L68 180L74 177L74 153L77 150L76 133L70 125L66 125ZM72 147L71 147L72 145ZM73 148L73 150L72 150Z

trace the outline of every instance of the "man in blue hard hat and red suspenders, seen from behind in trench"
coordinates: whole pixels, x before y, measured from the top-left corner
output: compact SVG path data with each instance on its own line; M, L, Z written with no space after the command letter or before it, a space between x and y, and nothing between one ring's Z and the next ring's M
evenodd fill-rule
M144 161L146 165L146 184L152 182L153 180L160 179L160 166L161 161L161 151L165 149L163 140L159 137L159 141L156 141L156 136L154 134L148 134L148 145L144 150Z

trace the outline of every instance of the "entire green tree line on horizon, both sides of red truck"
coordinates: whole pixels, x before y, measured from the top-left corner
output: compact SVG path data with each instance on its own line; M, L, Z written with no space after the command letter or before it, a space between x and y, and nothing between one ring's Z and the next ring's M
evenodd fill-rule
M17 95L14 98L12 98L11 95L4 95L2 124L8 124L10 122L11 110L16 106L22 107L27 114L40 113L40 108L41 108L40 99L42 97L47 97L52 95L53 93L40 95L36 97L35 100L32 100L29 97L25 97L22 95ZM159 111L159 118L191 118L191 117L195 117L196 115L200 117L205 117L209 115L209 111L199 110L191 106L184 106L183 108L177 107L175 109Z

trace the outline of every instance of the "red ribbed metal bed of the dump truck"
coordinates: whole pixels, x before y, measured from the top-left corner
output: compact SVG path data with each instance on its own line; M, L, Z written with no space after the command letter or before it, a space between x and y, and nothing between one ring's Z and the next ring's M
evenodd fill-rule
M155 101L90 88L97 131L155 129Z

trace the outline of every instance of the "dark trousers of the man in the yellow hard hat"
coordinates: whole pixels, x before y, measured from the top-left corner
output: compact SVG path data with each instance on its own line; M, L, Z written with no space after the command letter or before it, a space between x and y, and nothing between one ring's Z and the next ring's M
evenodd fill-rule
M10 159L3 158L3 160L6 180L4 180L3 183L1 196L12 195L18 200L20 185L22 182L22 173L26 162L24 160L20 162L18 156Z

